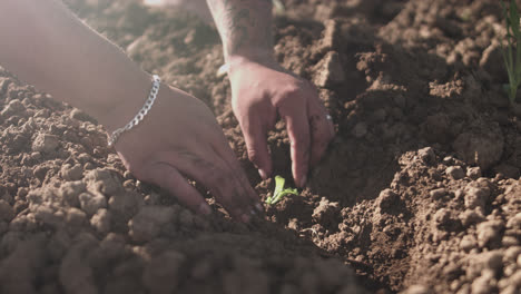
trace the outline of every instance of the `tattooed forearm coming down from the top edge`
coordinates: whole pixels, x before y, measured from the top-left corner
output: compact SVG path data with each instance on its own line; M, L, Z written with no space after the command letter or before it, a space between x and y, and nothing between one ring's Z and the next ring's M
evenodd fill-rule
M273 50L271 0L207 0L225 58Z

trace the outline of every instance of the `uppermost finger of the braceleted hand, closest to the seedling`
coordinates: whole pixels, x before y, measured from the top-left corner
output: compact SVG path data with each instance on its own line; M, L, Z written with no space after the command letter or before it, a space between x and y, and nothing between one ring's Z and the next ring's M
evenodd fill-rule
M214 141L225 141L225 138L216 139ZM237 180L240 183L244 189L244 196L250 199L250 204L257 209L257 212L263 213L264 206L260 204L257 193L253 189L248 177L244 173L244 169L240 167L234 151L229 148L227 144L216 144L214 146L215 151L223 159L223 161L228 166L228 168L234 173Z

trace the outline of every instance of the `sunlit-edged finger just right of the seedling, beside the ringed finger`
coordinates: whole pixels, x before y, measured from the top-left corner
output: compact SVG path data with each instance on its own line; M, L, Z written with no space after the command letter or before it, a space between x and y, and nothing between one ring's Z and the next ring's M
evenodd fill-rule
M286 120L287 135L291 141L292 171L295 184L304 187L309 164L309 124L305 108L292 109L281 114Z

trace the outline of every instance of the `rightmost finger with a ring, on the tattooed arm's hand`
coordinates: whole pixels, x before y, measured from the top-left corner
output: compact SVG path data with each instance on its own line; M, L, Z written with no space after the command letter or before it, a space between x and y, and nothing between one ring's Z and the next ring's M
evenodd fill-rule
M309 131L312 137L311 165L315 166L334 137L333 122L322 105L314 102L309 105Z

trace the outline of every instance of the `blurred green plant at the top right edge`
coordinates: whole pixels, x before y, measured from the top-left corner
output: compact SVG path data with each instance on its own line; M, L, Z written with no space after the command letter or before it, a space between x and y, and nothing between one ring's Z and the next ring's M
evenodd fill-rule
M507 47L501 43L501 51L503 53L504 65L509 75L509 85L507 91L509 94L510 104L515 101L515 95L521 84L521 31L519 23L518 4L515 0L511 0L507 8L504 2L501 1L503 8L503 17L507 23ZM514 52L515 51L515 52Z

